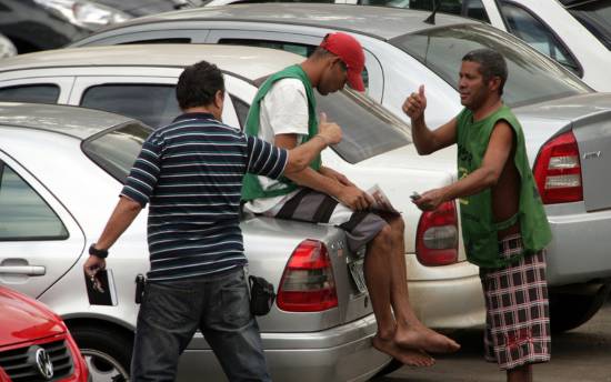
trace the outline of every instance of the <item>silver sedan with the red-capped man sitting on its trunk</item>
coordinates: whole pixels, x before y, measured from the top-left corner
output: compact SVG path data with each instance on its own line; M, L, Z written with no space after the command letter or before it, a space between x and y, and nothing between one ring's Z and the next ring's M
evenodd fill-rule
M108 259L106 304L88 298L82 264L151 131L103 111L0 103L0 283L63 318L96 382L129 379L134 278L148 270L147 213ZM371 345L375 320L362 259L348 251L341 230L259 218L241 228L249 272L279 294L258 320L276 381L364 381L390 362ZM202 375L224 380L198 333L181 358L179 380Z

